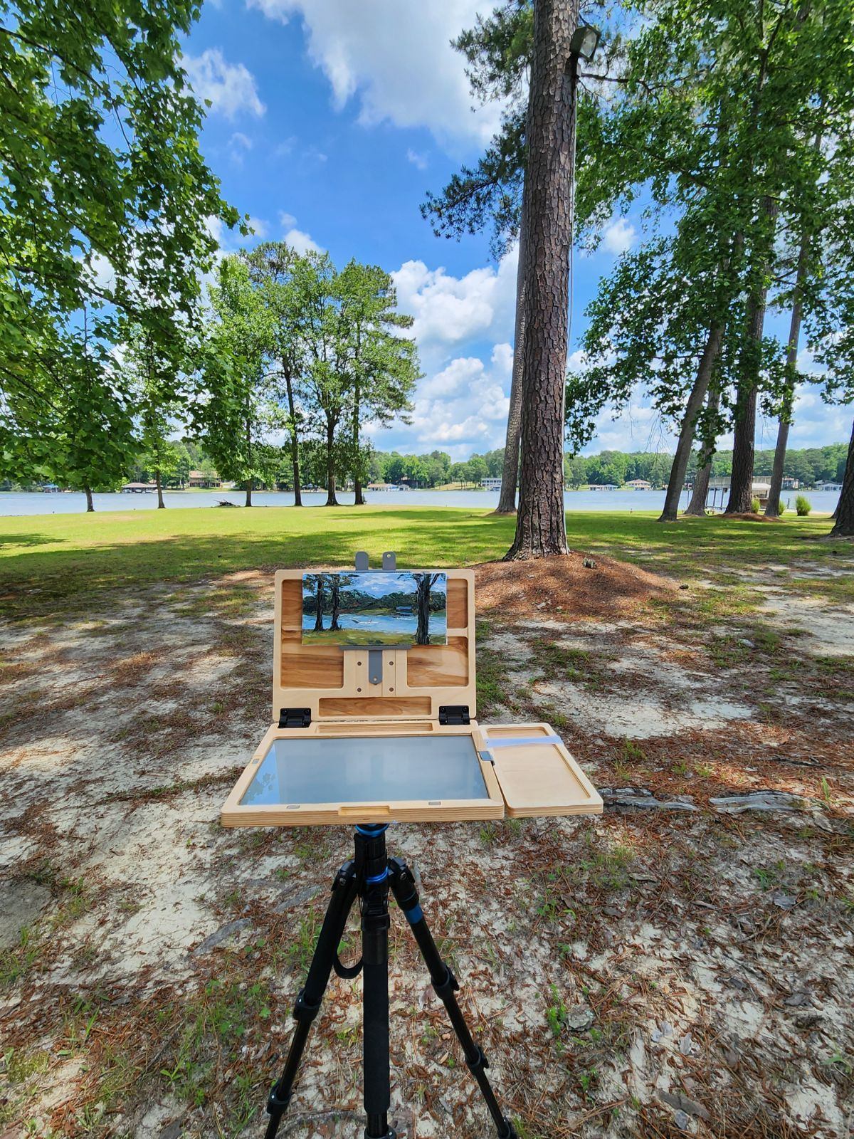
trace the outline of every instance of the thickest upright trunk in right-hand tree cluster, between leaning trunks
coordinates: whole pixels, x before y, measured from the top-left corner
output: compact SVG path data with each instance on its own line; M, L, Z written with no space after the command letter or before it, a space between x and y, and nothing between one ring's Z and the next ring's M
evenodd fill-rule
M769 198L763 210L773 219L777 206ZM772 230L773 238L773 230ZM738 395L736 398L736 424L732 437L732 475L730 477L730 500L726 514L749 514L753 502L753 466L756 445L756 395L759 387L762 362L762 335L765 327L765 296L767 285L764 262L747 298L747 322L745 347L739 361Z

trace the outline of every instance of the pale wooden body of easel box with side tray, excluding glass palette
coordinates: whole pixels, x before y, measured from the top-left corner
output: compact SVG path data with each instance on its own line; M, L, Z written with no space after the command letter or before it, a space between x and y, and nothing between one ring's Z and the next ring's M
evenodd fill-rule
M419 573L421 571L412 571ZM435 571L434 571L435 572ZM602 801L560 740L491 749L501 739L555 736L548 723L481 727L476 720L475 580L445 570L446 644L384 648L381 683L371 685L368 649L303 642L302 570L276 574L273 722L223 804L223 826L344 822L449 822L506 814L594 814ZM467 706L468 724L440 723L440 708ZM282 708L307 708L305 728L280 728ZM258 764L278 739L470 736L486 786L477 800L241 805Z

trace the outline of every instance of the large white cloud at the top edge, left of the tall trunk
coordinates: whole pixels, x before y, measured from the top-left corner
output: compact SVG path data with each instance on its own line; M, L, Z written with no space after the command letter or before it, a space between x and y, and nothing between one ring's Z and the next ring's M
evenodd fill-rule
M471 113L465 60L450 42L474 25L481 0L372 0L369 15L352 0L248 2L271 19L302 21L309 56L329 80L335 106L358 100L363 125L388 121L477 142L499 125L498 106Z

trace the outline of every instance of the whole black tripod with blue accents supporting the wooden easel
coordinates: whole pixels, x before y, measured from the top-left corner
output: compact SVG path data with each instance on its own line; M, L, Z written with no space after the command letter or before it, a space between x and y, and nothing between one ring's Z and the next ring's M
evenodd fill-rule
M457 1039L462 1044L466 1063L477 1080L490 1109L499 1139L518 1139L512 1123L502 1114L486 1076L485 1070L488 1065L483 1049L471 1039L460 1006L457 1003L454 993L460 986L451 969L442 960L427 928L421 907L418 904L418 891L412 871L402 859L387 855L386 826L376 823L355 828L355 859L345 862L332 882L331 898L309 967L305 988L301 990L294 1007L296 1030L285 1068L268 1097L266 1111L270 1122L265 1139L274 1139L281 1116L290 1103L311 1024L320 1011L320 1003L332 969L340 977L355 977L360 972L363 975L362 1056L364 1111L368 1117L364 1139L396 1139L396 1132L388 1125L389 888L409 921L429 970L436 995L444 1002ZM362 958L356 965L345 966L338 959L338 945L347 923L347 915L356 898L362 915Z

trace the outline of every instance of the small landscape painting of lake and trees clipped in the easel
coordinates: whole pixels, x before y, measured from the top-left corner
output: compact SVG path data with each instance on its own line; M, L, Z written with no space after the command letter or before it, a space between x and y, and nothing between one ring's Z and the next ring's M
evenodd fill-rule
M318 645L445 645L443 573L303 574L303 641Z

